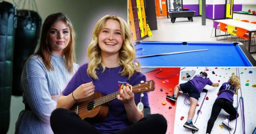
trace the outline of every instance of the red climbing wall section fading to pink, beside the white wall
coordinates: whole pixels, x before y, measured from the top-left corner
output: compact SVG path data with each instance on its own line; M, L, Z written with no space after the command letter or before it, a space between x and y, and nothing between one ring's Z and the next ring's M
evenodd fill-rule
M159 69L162 69L162 72L159 72ZM155 68L154 70L156 71L145 74L147 80L154 80L155 82L155 90L148 94L151 114L162 114L168 122L167 134L173 134L176 105L167 100L165 96L173 94L174 87L179 83L180 73L177 71L180 68ZM169 78L159 79L155 77L155 74L161 78L173 75Z

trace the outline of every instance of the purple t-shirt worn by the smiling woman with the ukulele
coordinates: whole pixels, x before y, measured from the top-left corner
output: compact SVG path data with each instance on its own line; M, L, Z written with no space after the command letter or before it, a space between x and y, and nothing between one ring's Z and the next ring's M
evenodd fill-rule
M140 83L141 80L146 81L146 77L142 73L134 73L130 79L128 79L128 76L121 76L121 73L119 72L122 71L122 69L122 66L106 68L102 73L101 68L97 71L99 79L95 80L87 74L87 64L84 64L79 67L62 94L67 96L81 84L91 81L93 81L95 86L95 92L100 92L103 95L117 92L122 84L125 85L126 83L129 83L133 86ZM147 92L144 92L143 94L144 97L142 97L141 101L145 107L149 107L148 94ZM140 93L134 93L134 95L135 104L138 104L140 102ZM131 125L128 121L124 104L118 99L110 101L109 103L110 107L104 121L100 123L92 123L92 125L102 133L116 133Z

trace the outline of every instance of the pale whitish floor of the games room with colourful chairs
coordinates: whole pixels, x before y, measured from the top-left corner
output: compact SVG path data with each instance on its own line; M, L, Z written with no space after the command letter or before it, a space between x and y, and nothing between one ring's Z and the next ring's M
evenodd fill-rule
M212 33L213 37L211 38L212 20L206 19L205 26L202 26L201 17L193 17L193 20L193 22L190 22L187 18L177 18L175 23L171 23L170 18L157 19L158 30L151 30L153 36L147 37L143 41L223 42L223 40L216 40L216 37L214 37L214 30ZM221 38L224 38L224 36L219 37L219 39ZM225 42L232 42L230 36ZM246 47L248 49L248 41L246 42ZM255 46L251 47L251 52L255 51L255 49ZM256 54L252 54L252 56L256 59Z

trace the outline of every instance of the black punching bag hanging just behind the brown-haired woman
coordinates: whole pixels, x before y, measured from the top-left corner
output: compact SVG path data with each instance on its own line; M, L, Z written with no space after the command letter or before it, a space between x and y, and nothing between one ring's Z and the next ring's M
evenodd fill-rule
M39 39L42 20L37 12L25 9L17 11L17 18L18 23L15 33L12 95L22 96L22 63L34 53Z

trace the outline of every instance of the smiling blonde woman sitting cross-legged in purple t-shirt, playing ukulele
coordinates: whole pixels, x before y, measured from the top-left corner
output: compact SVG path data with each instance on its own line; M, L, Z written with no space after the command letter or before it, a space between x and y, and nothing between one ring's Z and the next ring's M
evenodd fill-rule
M141 101L149 106L148 95L132 93L131 85L146 81L135 60L135 48L126 22L116 15L105 15L95 25L92 42L87 49L91 60L80 66L62 92L57 109L51 115L54 133L159 133L167 130L167 122L160 114L148 115L137 109ZM136 65L137 64L137 65ZM125 86L121 86L125 85ZM94 92L120 94L110 101L103 121L84 121L70 109L77 100L91 97Z

